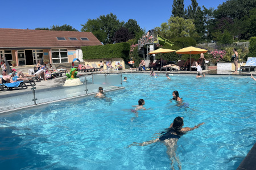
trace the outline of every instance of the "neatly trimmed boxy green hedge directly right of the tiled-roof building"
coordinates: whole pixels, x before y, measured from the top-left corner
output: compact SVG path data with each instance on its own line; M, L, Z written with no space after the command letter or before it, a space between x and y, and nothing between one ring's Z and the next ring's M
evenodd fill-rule
M130 44L121 42L108 45L82 46L81 49L84 59L123 58L129 60Z

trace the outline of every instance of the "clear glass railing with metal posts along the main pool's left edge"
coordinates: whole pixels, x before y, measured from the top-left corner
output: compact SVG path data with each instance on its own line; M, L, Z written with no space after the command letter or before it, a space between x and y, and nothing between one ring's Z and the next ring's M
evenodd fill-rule
M82 83L79 86L57 86L44 89L37 89L35 86L32 86L32 88L20 90L19 93L15 94L9 94L8 91L2 92L0 95L0 113L53 103L55 101L94 95L98 92L98 87L103 87L104 92L123 88L122 73L91 74L81 76L79 79Z

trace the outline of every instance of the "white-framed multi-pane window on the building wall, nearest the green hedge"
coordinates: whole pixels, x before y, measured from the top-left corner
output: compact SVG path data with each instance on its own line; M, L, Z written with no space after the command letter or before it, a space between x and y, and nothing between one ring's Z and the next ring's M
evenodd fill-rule
M68 62L67 49L52 49L52 63Z

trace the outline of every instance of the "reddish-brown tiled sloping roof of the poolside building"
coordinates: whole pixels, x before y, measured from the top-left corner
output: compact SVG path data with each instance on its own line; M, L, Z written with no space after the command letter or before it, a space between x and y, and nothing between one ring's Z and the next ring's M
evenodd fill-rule
M66 40L57 40L65 37ZM69 40L76 37L77 40ZM81 40L86 37L89 40ZM102 45L92 32L0 28L0 48L63 48Z

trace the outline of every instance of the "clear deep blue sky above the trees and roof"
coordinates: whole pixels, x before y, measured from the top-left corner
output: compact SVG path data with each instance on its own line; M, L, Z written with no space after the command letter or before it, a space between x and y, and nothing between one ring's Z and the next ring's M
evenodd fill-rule
M146 31L160 24L168 22L171 16L173 0L162 1L0 1L0 28L35 29L50 28L52 25L71 25L81 31L81 24L88 19L96 19L100 15L112 12L120 21L137 20L139 26ZM197 0L199 6L217 8L225 0L204 1ZM185 8L191 5L191 0L184 0Z

